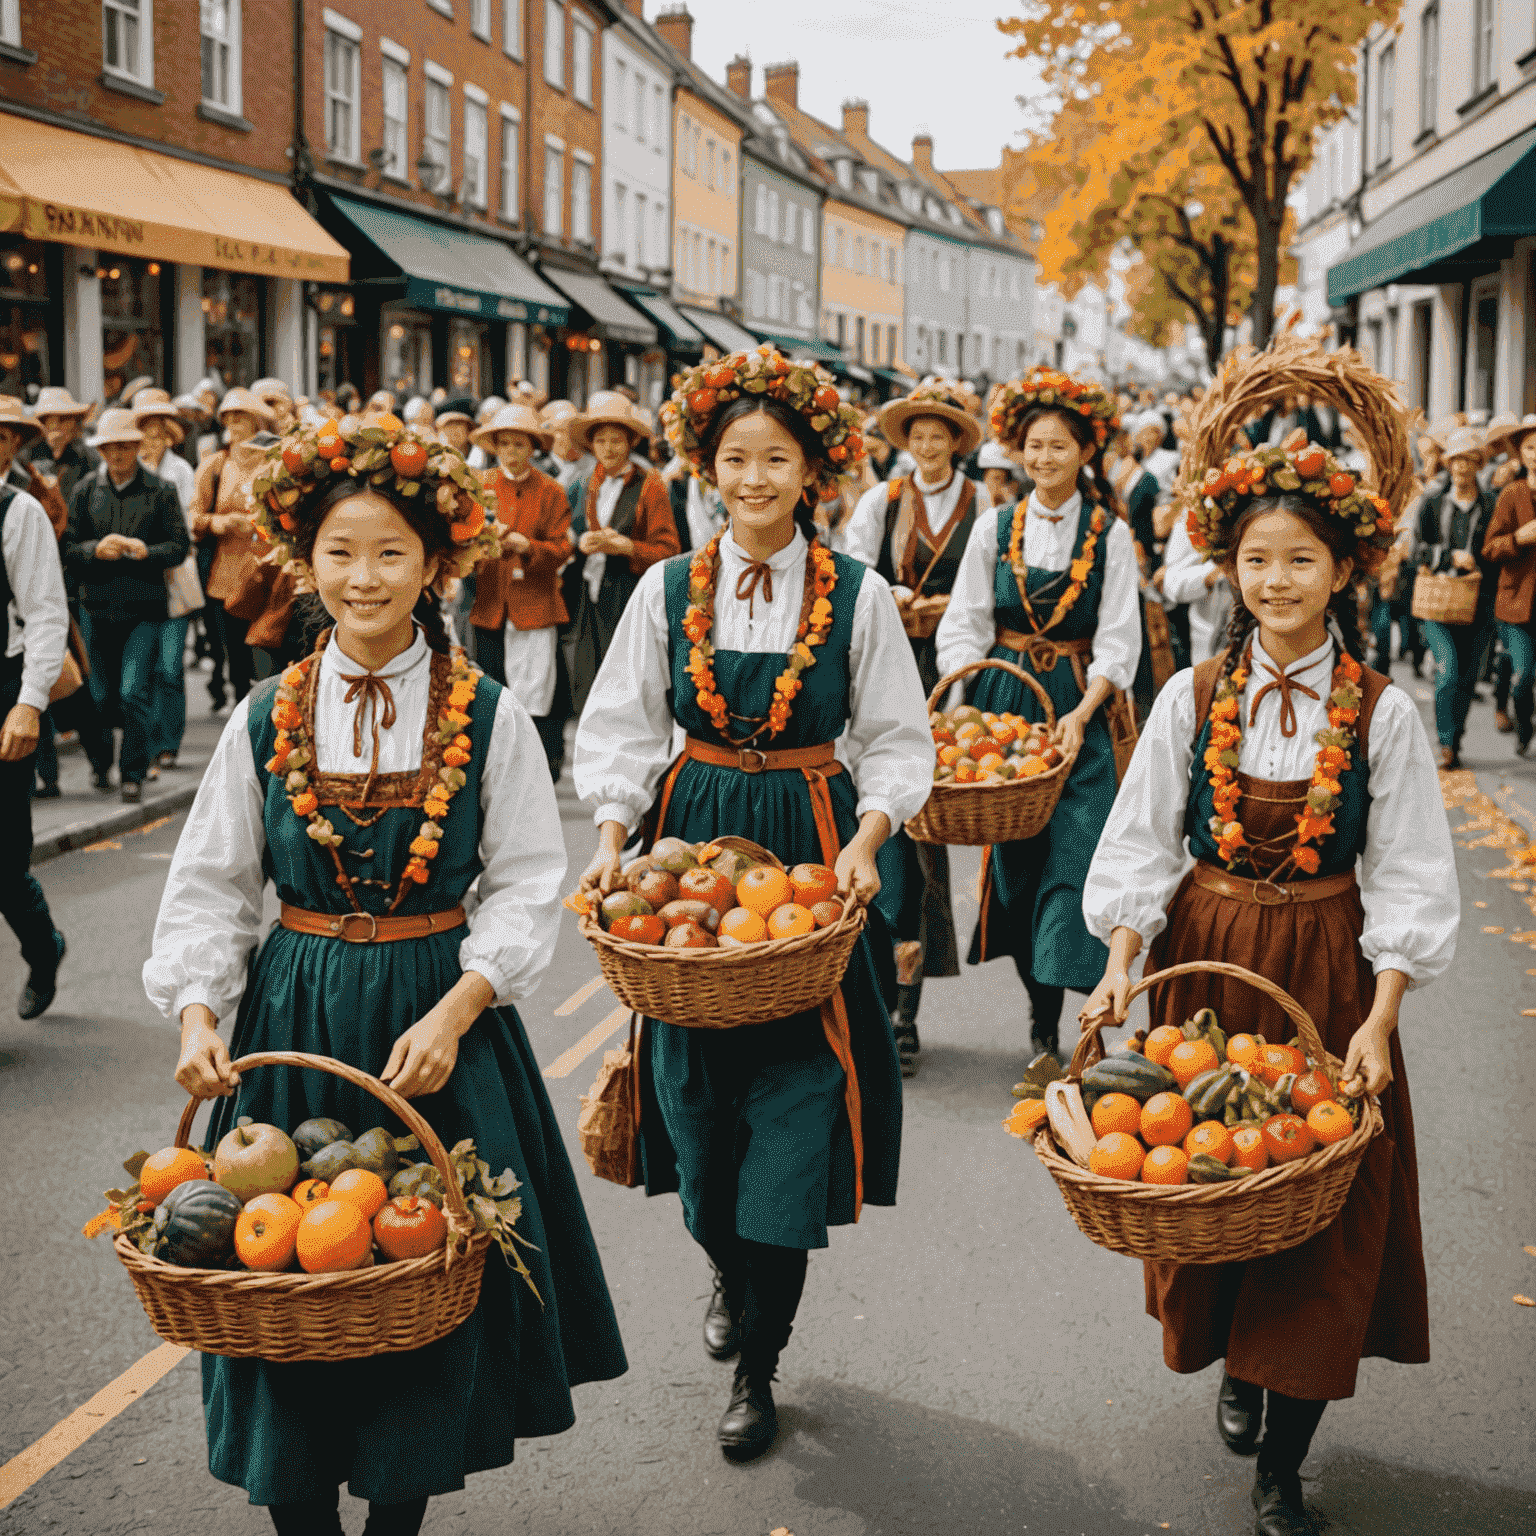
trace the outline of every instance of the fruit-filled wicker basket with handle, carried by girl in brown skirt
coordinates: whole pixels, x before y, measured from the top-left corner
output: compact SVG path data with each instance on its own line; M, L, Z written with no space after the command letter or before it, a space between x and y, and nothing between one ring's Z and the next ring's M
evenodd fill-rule
M1005 1124L1031 1127L1072 1220L1100 1247L1229 1264L1296 1247L1333 1221L1382 1120L1373 1098L1341 1092L1341 1063L1307 1011L1243 966L1169 966L1129 995L1197 972L1273 998L1296 1043L1227 1038L1207 1008L1154 1029L1140 1051L1104 1055L1106 1017L1081 1035L1064 1077L1020 1084L1028 1097Z

